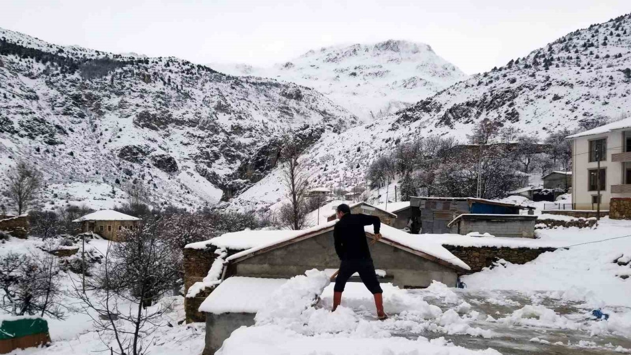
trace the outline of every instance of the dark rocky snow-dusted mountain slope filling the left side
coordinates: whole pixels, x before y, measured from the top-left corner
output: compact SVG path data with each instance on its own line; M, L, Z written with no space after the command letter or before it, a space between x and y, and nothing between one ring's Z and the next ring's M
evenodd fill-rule
M48 207L111 207L140 181L155 203L211 205L273 167L283 131L306 146L356 121L294 83L0 29L0 184L18 159L32 162Z

